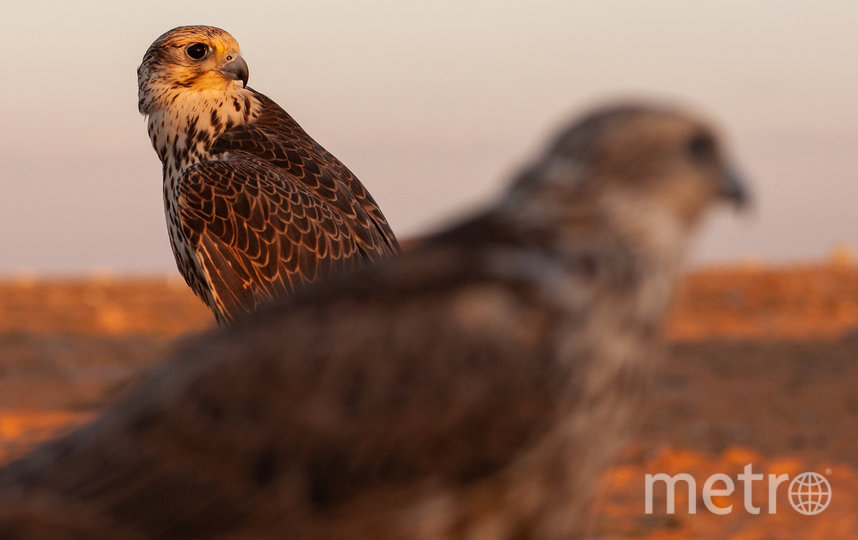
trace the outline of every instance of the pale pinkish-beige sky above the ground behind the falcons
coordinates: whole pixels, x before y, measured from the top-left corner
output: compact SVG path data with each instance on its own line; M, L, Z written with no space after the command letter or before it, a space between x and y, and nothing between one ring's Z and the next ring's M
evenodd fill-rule
M3 7L0 275L175 273L136 68L182 24L346 163L402 238L485 203L553 130L615 98L713 119L757 200L697 264L858 248L858 2L43 2Z

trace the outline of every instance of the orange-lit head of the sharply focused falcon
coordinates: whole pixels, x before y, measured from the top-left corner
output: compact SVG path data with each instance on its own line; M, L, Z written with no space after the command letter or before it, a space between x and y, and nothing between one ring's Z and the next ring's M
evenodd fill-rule
M143 55L137 68L138 108L151 114L180 92L229 93L244 88L247 77L238 42L228 32L180 26L156 39Z

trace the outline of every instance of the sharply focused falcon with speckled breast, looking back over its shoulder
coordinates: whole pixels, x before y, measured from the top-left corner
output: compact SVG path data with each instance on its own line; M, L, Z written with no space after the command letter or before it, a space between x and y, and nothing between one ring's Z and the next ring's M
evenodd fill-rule
M170 30L137 70L176 264L221 324L399 251L355 175L247 79L211 26Z

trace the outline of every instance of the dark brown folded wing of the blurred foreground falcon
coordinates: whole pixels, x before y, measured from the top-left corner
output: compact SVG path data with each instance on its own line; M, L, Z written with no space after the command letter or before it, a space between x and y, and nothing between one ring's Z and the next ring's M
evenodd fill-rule
M449 264L454 253L470 277ZM451 488L489 478L553 420L566 376L547 345L557 317L527 284L481 279L472 253L428 255L335 278L331 291L305 290L229 333L207 334L113 411L118 420L0 470L0 497L16 482L80 499L74 490L84 486L86 502L145 536L172 526L254 537L242 523L268 523L258 516L276 508L269 534L367 538L293 529L323 516L323 533L334 521L326 512L362 491L408 490L389 500L393 513L419 502L427 477ZM474 293L503 309L462 324L457 306ZM135 459L155 461L155 473ZM92 470L81 462L99 465L97 482L79 480ZM145 505L147 493L158 504Z

